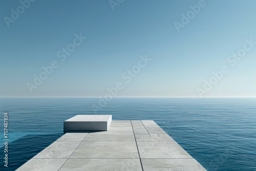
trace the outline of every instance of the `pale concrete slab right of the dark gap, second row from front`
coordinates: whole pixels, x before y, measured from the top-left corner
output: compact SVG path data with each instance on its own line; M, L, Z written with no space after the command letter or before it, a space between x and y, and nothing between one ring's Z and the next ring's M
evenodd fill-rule
M175 141L137 141L140 158L192 158Z

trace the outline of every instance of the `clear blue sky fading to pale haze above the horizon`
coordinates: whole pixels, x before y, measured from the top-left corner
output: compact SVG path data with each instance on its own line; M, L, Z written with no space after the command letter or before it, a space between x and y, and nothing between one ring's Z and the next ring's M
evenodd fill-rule
M33 1L0 1L0 97L256 97L254 0Z

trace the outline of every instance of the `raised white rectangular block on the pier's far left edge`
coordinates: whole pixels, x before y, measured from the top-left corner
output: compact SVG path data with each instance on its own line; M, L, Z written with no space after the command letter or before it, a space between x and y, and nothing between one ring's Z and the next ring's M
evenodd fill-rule
M112 115L76 115L64 121L64 133L69 131L108 131Z

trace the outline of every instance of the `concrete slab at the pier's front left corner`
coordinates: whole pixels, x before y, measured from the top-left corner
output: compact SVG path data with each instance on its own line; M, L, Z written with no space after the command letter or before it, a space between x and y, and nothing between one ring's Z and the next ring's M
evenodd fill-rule
M57 171L67 159L30 159L16 171Z

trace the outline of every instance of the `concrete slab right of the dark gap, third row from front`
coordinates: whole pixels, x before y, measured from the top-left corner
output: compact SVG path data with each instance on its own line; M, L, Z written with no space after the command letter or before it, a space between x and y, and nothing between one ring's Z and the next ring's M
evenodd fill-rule
M135 135L136 141L174 141L168 134Z

